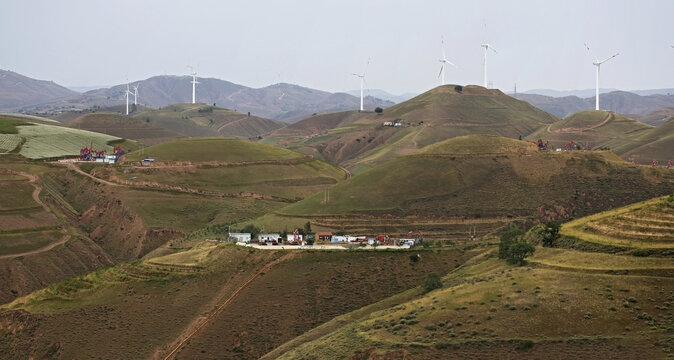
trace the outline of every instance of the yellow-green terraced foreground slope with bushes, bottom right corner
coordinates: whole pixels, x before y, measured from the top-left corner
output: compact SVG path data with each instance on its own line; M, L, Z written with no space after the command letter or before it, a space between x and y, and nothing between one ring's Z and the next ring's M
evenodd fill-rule
M655 223L668 216L668 199L580 220L635 217ZM620 239L625 225L604 230ZM592 233L586 234L574 236L593 242ZM642 240L657 242L658 234ZM536 247L525 266L510 265L496 258L496 249L484 248L445 276L441 289L419 289L336 318L263 359L668 358L671 254L598 252L608 247L584 252L568 244L563 236L555 248Z

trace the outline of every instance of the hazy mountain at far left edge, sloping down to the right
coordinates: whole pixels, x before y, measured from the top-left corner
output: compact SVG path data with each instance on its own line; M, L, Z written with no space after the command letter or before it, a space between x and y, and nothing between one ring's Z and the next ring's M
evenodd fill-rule
M13 71L0 70L0 111L56 101L78 95L53 81L36 80Z

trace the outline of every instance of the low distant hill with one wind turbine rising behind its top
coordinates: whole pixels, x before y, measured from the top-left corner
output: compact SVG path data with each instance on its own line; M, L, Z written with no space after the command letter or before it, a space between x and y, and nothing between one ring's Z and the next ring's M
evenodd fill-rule
M133 116L143 122L188 137L253 138L282 128L285 123L248 116L206 104L173 104Z

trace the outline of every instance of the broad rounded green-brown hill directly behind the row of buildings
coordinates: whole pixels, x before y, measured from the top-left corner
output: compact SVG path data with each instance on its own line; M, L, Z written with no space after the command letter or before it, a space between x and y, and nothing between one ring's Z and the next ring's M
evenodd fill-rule
M503 221L568 219L671 193L673 179L671 170L630 166L610 152L538 152L476 135L396 158L333 186L329 200L319 193L277 213L335 230L466 238L466 220L484 233Z

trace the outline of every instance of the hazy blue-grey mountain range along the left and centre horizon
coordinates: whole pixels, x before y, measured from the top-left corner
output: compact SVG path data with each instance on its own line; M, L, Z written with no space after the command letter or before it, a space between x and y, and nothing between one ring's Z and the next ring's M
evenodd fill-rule
M126 84L77 93L53 82L30 79L3 71L0 80L0 111L46 113L108 107L125 102ZM6 79L5 79L6 78ZM185 103L192 98L188 76L154 76L132 83L138 85L138 102L160 108ZM346 93L329 93L292 84L275 84L259 89L215 78L199 78L197 102L217 104L263 118L294 122L314 113L358 109L360 99ZM26 85L28 84L28 85ZM393 102L372 96L365 108L388 107Z

